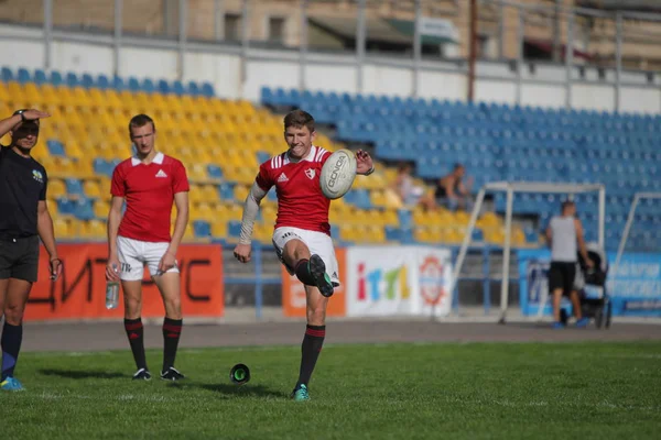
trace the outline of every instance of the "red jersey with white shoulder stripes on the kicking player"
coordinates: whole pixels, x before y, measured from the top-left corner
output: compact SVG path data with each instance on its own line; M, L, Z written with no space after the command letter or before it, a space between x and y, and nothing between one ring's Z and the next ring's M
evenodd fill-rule
M313 145L307 156L299 162L291 162L285 152L260 165L257 184L266 191L275 186L275 228L301 228L330 235L330 200L319 186L322 166L329 156L328 151Z

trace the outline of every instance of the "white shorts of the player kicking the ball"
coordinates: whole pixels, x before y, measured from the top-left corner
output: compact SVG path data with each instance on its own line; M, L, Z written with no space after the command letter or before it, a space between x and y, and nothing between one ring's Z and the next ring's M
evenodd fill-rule
M294 239L305 243L311 254L317 254L322 257L326 265L326 273L330 277L330 282L334 286L339 286L339 271L337 258L335 257L335 248L333 248L333 240L323 232L290 227L280 227L273 231L273 246L275 248L275 253L284 267L286 267L289 274L294 275L294 270L284 262L282 252L286 242Z

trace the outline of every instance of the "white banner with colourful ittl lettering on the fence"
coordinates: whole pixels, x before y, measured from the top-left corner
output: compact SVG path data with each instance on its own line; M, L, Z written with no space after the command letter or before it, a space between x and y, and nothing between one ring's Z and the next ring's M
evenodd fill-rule
M347 250L347 316L449 312L451 253L425 246Z

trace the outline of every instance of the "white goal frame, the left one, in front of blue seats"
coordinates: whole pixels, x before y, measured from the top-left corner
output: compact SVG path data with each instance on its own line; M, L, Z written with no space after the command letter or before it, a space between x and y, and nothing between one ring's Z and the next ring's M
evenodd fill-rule
M452 277L452 289L458 283L458 277L468 252L468 246L473 239L473 231L477 223L477 218L485 201L487 193L506 193L506 213L505 213L505 243L502 248L502 278L500 283L500 323L506 322L507 305L509 295L509 266L510 266L510 252L511 252L511 233L512 233L512 208L514 202L514 194L598 194L598 237L597 241L599 248L604 248L604 222L606 217L606 187L602 184L550 184L540 182L494 182L484 185L477 194L473 212L468 221L466 234L459 248L459 253L455 262L453 277ZM660 195L661 197L661 195Z

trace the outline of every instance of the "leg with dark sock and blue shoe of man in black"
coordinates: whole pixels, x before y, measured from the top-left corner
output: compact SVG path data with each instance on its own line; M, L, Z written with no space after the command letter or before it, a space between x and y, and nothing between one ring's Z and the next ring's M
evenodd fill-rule
M19 352L23 341L23 311L32 283L24 279L9 278L6 283L4 326L2 327L2 376L0 388L21 391L23 385L14 377L14 369L19 361Z

